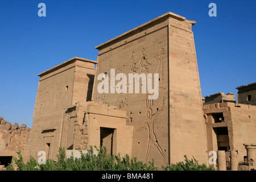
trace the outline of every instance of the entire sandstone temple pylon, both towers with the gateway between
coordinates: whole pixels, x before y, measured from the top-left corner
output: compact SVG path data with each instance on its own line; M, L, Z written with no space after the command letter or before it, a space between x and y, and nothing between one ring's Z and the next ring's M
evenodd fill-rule
M46 150L47 158L55 158L59 147L86 150L102 144L113 154L127 152L145 162L154 158L158 166L184 155L207 163L193 24L168 12L97 46L96 69L94 61L75 57L40 73L31 155ZM115 75L158 74L159 97L99 93L97 76L110 78L112 69ZM90 100L94 104L86 103Z

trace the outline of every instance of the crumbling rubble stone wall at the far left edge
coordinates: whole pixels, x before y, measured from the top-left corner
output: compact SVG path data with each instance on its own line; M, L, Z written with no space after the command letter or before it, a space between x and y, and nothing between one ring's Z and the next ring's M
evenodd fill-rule
M27 150L30 131L27 125L11 125L0 117L0 151Z

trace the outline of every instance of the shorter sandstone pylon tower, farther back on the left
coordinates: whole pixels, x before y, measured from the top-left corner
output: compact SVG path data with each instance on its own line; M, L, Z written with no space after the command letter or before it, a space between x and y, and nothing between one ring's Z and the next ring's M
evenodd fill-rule
M77 102L91 100L96 61L73 57L40 73L28 151L38 158L39 151L46 159L55 159L63 138L65 112ZM69 119L69 118L68 118ZM72 122L71 122L72 125ZM70 127L67 148L72 149L74 127Z

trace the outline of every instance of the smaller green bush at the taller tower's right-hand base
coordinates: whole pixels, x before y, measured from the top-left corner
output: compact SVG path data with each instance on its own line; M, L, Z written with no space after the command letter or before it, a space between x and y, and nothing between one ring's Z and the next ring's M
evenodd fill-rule
M212 166L207 166L206 164L198 164L198 161L193 157L189 160L186 155L185 163L183 161L176 164L167 164L166 167L162 166L164 171L215 171Z

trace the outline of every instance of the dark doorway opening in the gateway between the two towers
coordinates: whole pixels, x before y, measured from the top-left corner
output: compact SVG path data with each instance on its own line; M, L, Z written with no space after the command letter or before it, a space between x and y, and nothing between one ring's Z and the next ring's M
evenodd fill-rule
M114 155L116 149L115 129L100 127L100 135L101 147L106 147L107 155Z

